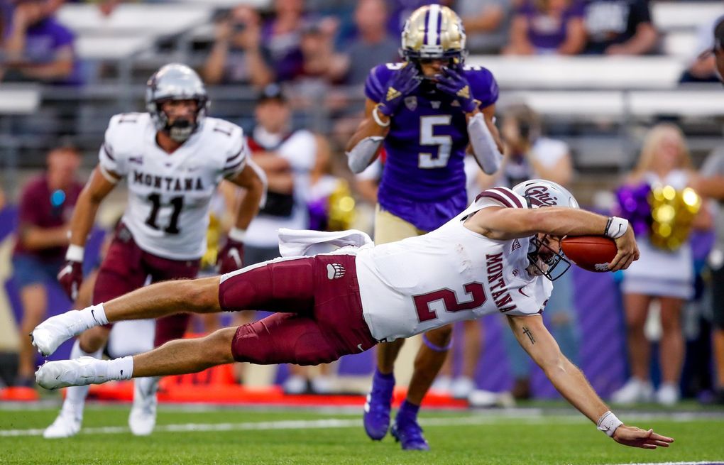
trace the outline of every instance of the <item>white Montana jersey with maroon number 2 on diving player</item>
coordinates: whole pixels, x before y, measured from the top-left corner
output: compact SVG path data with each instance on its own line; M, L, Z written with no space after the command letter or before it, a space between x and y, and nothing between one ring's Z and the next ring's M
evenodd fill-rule
M526 271L529 238L492 240L463 226L488 206L529 208L508 188L484 190L432 233L358 251L363 315L376 340L408 338L485 314L543 310L553 284Z

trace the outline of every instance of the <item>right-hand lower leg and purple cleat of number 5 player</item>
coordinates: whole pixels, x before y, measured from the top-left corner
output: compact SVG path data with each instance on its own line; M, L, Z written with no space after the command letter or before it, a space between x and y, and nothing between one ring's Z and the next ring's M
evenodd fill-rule
M395 440L400 441L402 448L406 451L428 451L430 448L422 435L422 428L417 422L417 414L422 399L435 380L442 364L445 363L447 351L450 350L451 334L452 325L447 324L423 335L423 344L415 358L415 369L410 380L407 398L400 406L400 410L397 411L395 422L390 430Z

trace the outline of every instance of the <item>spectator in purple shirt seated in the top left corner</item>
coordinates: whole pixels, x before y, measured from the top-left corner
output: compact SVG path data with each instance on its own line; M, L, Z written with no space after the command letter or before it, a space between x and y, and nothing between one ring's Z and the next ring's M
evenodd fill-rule
M5 78L82 84L74 40L70 30L47 15L45 2L19 1L3 43L7 55Z

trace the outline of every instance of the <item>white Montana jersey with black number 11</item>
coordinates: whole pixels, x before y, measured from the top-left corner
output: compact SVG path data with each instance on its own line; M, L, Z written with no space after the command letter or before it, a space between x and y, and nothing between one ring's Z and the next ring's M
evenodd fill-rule
M98 156L101 168L127 181L122 220L138 246L167 259L191 260L206 251L216 186L244 168L247 154L240 127L209 117L168 154L156 143L150 114L125 113L111 118Z

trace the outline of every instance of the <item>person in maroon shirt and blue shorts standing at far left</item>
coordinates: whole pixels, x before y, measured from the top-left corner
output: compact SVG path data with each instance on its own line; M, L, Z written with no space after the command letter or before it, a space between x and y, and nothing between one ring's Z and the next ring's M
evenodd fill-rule
M80 156L75 148L48 154L48 170L30 180L20 196L20 222L12 254L13 278L20 290L23 317L20 334L27 335L46 317L46 282L56 282L68 245L67 222L83 189L75 175ZM21 338L17 385L35 384L35 351Z

